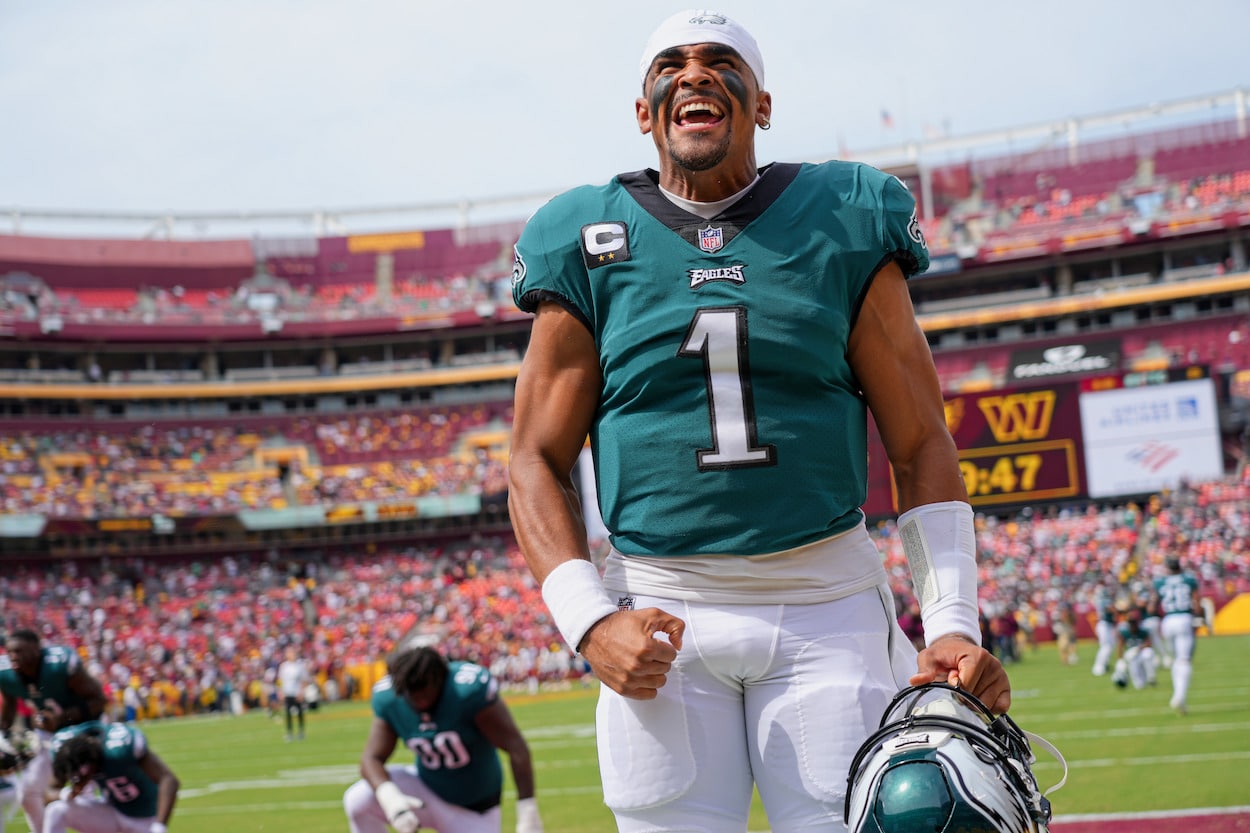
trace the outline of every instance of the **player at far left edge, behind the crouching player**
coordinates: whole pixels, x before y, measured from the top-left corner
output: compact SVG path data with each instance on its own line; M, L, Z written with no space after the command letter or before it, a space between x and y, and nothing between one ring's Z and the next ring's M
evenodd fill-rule
M62 645L44 645L34 630L12 630L0 655L0 732L14 728L18 702L35 710L34 729L40 750L19 777L21 809L31 830L44 827L44 793L52 777L48 740L58 729L94 720L104 713L104 687L82 664L81 657Z

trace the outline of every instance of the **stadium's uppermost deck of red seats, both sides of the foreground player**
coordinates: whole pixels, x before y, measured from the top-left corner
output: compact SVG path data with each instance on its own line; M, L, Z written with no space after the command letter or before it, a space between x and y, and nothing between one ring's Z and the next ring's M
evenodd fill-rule
M925 313L1241 273L1250 228L1246 101L1245 90L1234 90L881 149L864 160L918 194L932 253L915 289ZM1194 111L1204 120L1176 126ZM15 234L0 235L0 339L294 339L492 324L515 315L504 280L510 248L519 218L541 199L518 198L512 219L481 224L458 206L462 221L452 228L378 231L386 209L255 215L248 234L215 239L176 239L176 231L248 215L9 209ZM390 211L394 221L404 209ZM92 219L149 228L122 238L20 233L31 223ZM258 229L266 220L316 230L265 234ZM368 231L328 230L348 223Z

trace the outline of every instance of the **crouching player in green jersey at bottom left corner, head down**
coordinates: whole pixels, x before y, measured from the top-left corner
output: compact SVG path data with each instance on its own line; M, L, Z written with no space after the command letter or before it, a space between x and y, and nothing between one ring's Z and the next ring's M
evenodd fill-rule
M45 809L42 833L165 833L179 779L142 732L80 723L52 735L51 748L52 788L70 790Z

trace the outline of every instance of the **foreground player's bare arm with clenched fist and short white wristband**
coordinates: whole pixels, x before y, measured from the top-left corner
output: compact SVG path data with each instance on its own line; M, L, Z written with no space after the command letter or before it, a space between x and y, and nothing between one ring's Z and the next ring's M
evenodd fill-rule
M605 685L652 699L681 647L685 624L655 608L616 613L590 563L572 469L601 389L590 331L559 304L540 305L516 378L508 509L525 560L544 584L544 600L570 647ZM574 563L579 560L585 565ZM549 583L552 573L556 578ZM654 638L660 632L669 642Z

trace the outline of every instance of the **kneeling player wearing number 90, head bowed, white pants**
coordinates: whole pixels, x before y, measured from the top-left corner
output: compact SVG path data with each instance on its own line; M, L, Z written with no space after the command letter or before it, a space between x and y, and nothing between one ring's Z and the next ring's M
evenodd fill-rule
M448 662L429 645L401 647L374 685L374 723L361 780L344 793L351 833L499 833L508 755L516 784L516 833L542 833L534 763L499 685L481 665ZM388 764L398 744L416 765Z

